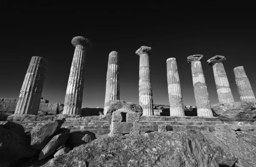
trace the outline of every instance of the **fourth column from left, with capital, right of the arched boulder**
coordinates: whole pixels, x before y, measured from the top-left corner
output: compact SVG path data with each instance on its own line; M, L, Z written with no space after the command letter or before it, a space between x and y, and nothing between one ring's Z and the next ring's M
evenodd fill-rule
M152 54L151 47L141 46L136 52L140 56L140 80L139 80L139 101L143 109L143 115L154 115L154 104L152 96L152 85L149 65L149 55Z

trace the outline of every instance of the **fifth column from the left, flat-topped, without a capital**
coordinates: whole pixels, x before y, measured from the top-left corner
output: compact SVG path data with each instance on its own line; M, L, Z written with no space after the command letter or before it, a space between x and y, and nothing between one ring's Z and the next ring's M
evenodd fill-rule
M166 60L170 116L185 116L180 88L180 77L175 58Z

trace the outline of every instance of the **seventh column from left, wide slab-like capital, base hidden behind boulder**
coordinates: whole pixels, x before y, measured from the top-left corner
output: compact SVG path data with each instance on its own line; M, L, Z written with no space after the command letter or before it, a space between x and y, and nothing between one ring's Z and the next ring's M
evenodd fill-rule
M227 80L227 75L223 66L223 62L225 62L225 60L226 58L220 55L216 55L207 60L207 63L213 68L219 103L234 102L230 85Z

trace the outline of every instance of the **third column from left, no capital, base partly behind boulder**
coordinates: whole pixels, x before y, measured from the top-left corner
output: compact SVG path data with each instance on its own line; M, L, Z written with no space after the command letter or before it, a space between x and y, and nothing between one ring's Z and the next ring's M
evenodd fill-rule
M112 51L108 55L104 115L107 114L110 102L114 100L119 100L119 53L116 51Z

